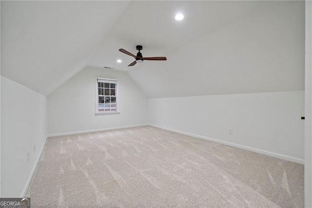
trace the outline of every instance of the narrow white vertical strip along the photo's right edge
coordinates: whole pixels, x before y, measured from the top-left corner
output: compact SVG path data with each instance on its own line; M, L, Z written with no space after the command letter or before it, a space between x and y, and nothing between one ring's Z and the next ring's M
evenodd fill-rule
M306 64L305 64L305 166L304 198L305 207L312 207L312 1L306 2Z

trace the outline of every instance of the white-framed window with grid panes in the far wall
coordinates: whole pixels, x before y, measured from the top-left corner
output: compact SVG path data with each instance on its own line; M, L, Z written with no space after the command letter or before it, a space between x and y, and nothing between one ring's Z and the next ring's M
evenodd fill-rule
M97 113L117 113L117 80L97 79Z

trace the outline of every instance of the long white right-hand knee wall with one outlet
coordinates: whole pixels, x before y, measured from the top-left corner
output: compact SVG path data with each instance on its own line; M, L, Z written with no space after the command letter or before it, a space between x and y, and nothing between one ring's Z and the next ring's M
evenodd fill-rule
M251 150L299 163L304 159L303 115L304 91L155 98L148 102L152 125L255 148Z

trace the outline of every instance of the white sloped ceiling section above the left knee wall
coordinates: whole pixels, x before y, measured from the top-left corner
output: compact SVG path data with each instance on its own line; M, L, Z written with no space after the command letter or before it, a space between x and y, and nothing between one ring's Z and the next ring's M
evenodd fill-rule
M48 95L87 65L128 4L1 0L1 75Z

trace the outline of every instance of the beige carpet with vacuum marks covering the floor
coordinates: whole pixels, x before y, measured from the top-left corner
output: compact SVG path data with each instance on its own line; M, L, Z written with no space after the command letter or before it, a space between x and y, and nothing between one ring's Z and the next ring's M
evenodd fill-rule
M303 207L304 166L151 126L48 138L32 207Z

